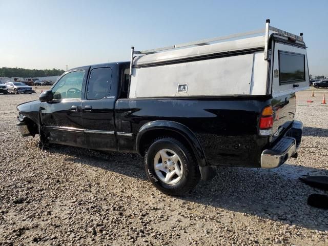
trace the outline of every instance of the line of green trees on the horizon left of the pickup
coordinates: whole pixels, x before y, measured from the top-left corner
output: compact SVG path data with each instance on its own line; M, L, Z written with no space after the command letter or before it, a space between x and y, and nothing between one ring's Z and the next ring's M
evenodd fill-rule
M63 69L25 69L25 68L0 68L0 77L46 77L63 74Z

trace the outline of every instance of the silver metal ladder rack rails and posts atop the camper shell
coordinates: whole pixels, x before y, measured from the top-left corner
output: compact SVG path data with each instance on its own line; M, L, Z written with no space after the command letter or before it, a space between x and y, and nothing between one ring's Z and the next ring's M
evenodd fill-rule
M295 35L293 33L286 32L286 31L283 31L281 29L275 28L273 26L270 26L270 19L267 19L266 23L265 23L265 28L255 30L255 31L236 33L236 34L231 34L231 35L228 35L228 36L207 38L207 39L202 39L202 40L198 40L198 41L194 41L194 42L177 44L177 45L172 45L172 46L167 46L167 47L162 47L162 48L157 48L157 49L151 49L151 50L136 51L136 50L134 50L134 47L132 47L131 48L131 65L130 65L130 68L132 69L132 67L133 67L134 55L149 55L149 54L154 54L154 53L161 52L161 51L167 51L167 50L172 50L172 49L180 49L180 48L187 48L187 47L190 47L190 46L210 45L212 43L221 42L223 40L228 40L228 39L233 39L233 38L240 39L242 37L255 35L255 34L262 34L262 33L265 33L264 60L270 60L270 56L268 55L268 52L269 52L268 45L269 45L269 38L270 38L271 33L279 33L280 35L283 35L283 36L286 36L288 38L297 40L299 42L303 42L303 33L300 33L300 35ZM131 71L131 69L130 69L130 71Z

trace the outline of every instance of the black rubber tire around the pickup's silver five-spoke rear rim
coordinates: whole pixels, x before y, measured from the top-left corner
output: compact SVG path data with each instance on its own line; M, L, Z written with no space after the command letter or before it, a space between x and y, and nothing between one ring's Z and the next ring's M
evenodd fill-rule
M163 149L174 151L180 159L180 165L183 165L181 178L174 184L163 182L155 172L155 156ZM198 164L192 151L180 141L171 137L159 138L148 148L145 155L145 169L149 180L158 190L173 196L186 195L197 185L200 179Z

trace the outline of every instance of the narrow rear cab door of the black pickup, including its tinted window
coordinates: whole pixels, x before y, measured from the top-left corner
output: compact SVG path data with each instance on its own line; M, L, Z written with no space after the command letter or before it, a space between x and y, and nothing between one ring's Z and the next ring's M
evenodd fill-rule
M87 148L117 150L114 107L117 90L113 87L115 66L91 67L82 103Z

